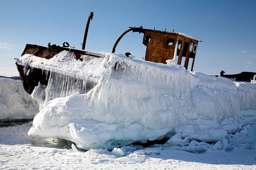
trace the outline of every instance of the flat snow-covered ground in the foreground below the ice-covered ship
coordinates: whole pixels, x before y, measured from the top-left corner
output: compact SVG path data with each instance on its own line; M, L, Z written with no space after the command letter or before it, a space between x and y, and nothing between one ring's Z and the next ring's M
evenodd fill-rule
M120 150L98 153L102 150L74 152L67 143L56 139L38 139L28 136L32 122L24 125L0 128L0 169L1 170L66 170L66 169L108 169L108 170L255 170L256 169L256 124L243 127L242 132L230 135L233 150L223 150L221 145L190 142L186 147L179 136L172 138L177 145L140 149L127 147L125 155ZM45 146L45 147L38 147ZM54 148L57 147L57 148ZM64 148L64 149L63 149ZM119 155L118 155L119 154ZM115 156L116 155L116 156Z

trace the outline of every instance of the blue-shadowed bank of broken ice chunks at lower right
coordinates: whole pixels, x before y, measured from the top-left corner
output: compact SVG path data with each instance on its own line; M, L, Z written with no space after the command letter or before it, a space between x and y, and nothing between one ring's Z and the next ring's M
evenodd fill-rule
M206 151L225 150L230 151L234 148L243 148L245 150L252 149L255 144L255 128L256 128L256 111L242 111L240 118L236 121L232 118L221 121L220 125L227 130L226 134L221 136L215 144L209 144L206 142L200 142L198 139L205 136L205 132L201 131L195 133L193 127L183 128L181 133L172 136L164 146L175 147L177 150L183 150L192 153L204 153ZM209 122L209 121L208 121ZM198 126L198 124L196 124ZM202 127L202 125L200 125ZM209 127L208 124L206 127ZM218 125L217 125L218 126ZM216 127L216 126L215 126ZM212 133L218 133L214 128L211 129ZM184 133L185 132L185 133ZM200 135L203 133L202 135ZM233 134L232 134L233 133ZM221 133L220 133L221 134ZM195 137L198 135L199 137ZM184 136L186 136L184 138ZM196 139L197 141L193 140Z

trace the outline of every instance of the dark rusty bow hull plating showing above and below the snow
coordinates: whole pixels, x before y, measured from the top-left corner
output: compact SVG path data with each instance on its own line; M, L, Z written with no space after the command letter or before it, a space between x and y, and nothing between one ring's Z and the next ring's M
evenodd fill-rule
M77 62L81 62L83 60L81 58L82 55L87 55L92 57L104 57L100 53L94 52L94 51L77 50L75 48L60 47L56 45L48 45L48 48L47 48L44 46L31 45L31 44L26 45L21 56L23 56L24 54L32 54L36 57L51 59L56 54L59 54L61 51L73 52L75 54L76 59L78 60ZM45 74L46 70L40 69L40 68L33 68L33 67L30 68L29 66L28 68L24 68L24 65L20 65L17 62L16 62L16 65L20 74L20 79L22 81L23 87L28 94L32 94L32 91L35 89L36 86L38 86L39 82L41 85L47 86L51 73ZM28 70L28 69L30 71L25 73L25 70ZM89 91L96 84L97 83L95 81L87 83L85 91Z

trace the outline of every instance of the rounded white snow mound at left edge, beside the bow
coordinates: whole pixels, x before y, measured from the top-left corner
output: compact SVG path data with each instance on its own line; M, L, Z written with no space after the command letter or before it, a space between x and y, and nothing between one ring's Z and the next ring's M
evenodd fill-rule
M38 102L24 91L20 80L0 78L0 121L33 119Z

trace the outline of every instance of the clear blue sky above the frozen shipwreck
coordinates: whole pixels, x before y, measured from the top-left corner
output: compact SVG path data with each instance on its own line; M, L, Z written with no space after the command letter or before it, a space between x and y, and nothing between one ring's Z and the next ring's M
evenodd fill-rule
M25 45L48 42L111 52L129 26L183 32L198 43L194 70L219 75L256 72L256 0L0 0L0 75L18 76ZM128 33L116 53L145 56L143 34Z

